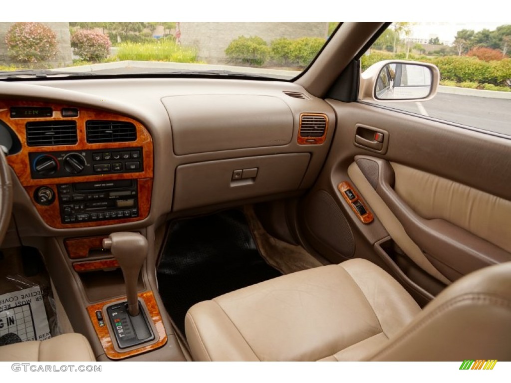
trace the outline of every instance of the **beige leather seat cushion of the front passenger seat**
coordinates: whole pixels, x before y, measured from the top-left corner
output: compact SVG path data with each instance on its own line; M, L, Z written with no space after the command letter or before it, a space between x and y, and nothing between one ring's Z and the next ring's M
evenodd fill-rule
M284 275L190 308L196 361L363 360L421 308L364 259Z

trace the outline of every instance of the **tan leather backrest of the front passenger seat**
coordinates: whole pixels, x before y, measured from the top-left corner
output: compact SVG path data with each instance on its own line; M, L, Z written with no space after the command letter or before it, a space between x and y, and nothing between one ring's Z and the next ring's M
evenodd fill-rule
M511 361L511 262L445 289L372 361Z

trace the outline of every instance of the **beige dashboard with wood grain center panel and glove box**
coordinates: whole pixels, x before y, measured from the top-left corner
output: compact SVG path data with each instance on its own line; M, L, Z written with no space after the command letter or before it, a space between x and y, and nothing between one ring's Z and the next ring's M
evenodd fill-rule
M27 108L22 113L50 108L52 114L13 115L13 107ZM95 234L105 226L130 230L176 214L303 193L321 170L335 126L327 103L280 81L6 83L0 109L0 120L20 141L19 151L7 158L19 181L15 186L23 189L14 201L21 235L66 235L77 228ZM136 137L90 142L89 125L95 122L131 124ZM72 123L76 141L30 145L27 134L41 123ZM108 128L112 125L103 127ZM137 158L119 159L127 153ZM127 170L133 163L137 169ZM58 170L48 172L48 166ZM84 170L75 173L77 166ZM121 181L134 182L128 185L132 195ZM101 183L113 185L105 186L105 194ZM51 203L39 201L41 187L50 189ZM117 196L117 189L125 194Z

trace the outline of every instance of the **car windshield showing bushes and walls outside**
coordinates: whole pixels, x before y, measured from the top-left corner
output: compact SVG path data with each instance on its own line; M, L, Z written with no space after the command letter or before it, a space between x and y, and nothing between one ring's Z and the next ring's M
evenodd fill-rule
M293 79L338 22L0 22L0 77Z

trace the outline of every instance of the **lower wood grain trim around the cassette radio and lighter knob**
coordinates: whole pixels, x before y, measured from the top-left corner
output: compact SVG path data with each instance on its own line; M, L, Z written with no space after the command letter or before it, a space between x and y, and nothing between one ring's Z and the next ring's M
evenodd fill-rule
M57 195L57 185L47 184L53 189L55 195ZM92 221L92 222L80 222L74 224L63 224L60 220L60 205L59 201L56 198L55 202L51 205L39 205L35 202L34 192L38 186L26 186L25 190L32 200L32 203L36 207L39 212L41 218L46 222L49 226L57 228L57 229L67 229L67 228L76 228L76 227L96 227L96 226L105 226L105 225L115 225L120 223L127 222L137 222L141 221L147 216L149 216L149 211L151 210L151 194L153 188L153 180L152 179L140 179L138 180L138 217L134 218L123 218L119 220L105 220L105 221Z

